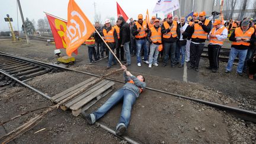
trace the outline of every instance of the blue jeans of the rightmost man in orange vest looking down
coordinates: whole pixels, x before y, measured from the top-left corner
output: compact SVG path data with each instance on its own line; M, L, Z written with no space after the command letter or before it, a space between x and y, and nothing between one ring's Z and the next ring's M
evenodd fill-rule
M247 55L247 50L238 50L233 47L231 47L231 52L229 53L229 61L228 65L226 66L226 71L231 71L233 66L233 60L235 60L235 57L238 55L238 67L236 69L236 72L242 73L242 69L244 68L244 61L245 57Z

